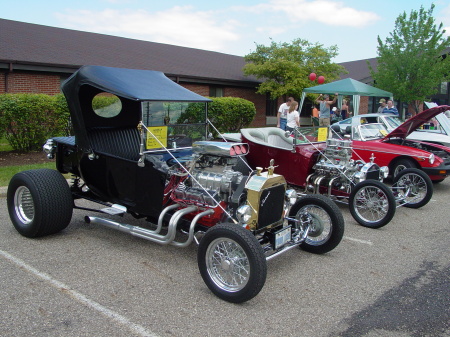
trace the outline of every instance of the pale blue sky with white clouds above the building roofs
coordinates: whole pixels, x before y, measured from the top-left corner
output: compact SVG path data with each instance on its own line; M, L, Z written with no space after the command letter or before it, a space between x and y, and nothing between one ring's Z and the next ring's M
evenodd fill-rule
M400 14L432 3L450 35L448 0L16 0L2 1L0 18L238 56L300 38L336 45L341 63L376 57Z

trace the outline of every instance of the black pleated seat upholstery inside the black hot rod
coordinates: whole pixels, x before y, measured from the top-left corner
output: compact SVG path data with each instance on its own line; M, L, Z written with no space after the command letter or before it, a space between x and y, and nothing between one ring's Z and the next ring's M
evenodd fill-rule
M140 136L133 128L92 128L88 131L94 152L137 161L139 159Z

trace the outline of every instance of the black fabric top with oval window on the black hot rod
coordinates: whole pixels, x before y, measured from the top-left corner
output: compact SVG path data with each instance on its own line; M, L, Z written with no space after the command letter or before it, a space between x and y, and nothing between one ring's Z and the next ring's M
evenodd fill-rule
M88 131L93 128L136 127L142 118L142 101L211 102L153 70L83 66L61 89L72 117L75 142L84 150L90 149ZM116 117L102 118L94 113L92 99L102 92L120 98L122 111Z

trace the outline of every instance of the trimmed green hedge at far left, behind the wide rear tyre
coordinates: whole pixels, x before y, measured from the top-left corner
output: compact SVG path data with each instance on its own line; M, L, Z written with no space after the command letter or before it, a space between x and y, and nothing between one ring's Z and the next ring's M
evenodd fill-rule
M69 111L62 94L0 95L0 129L14 150L40 150L45 141L67 131Z

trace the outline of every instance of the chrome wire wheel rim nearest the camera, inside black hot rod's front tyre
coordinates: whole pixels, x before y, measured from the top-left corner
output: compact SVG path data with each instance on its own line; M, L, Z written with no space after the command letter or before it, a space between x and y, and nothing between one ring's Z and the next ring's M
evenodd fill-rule
M206 268L211 280L222 290L242 290L250 277L250 261L244 249L234 240L217 238L206 251Z

